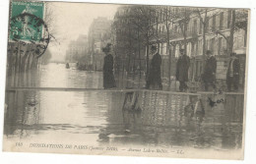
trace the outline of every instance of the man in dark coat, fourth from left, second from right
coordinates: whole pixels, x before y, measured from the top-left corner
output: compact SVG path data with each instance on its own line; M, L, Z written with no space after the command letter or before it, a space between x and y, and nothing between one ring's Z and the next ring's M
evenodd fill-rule
M214 89L216 89L216 68L217 68L217 60L215 56L213 56L212 51L207 50L206 52L207 59L205 63L205 70L202 76L202 79L205 83L205 90L208 91L208 84L210 83Z

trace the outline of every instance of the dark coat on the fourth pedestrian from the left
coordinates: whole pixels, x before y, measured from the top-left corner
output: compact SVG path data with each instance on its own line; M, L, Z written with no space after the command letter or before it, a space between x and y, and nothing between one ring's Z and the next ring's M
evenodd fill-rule
M217 60L214 56L211 56L206 60L205 70L203 74L204 82L215 82L216 80L216 69L217 69Z

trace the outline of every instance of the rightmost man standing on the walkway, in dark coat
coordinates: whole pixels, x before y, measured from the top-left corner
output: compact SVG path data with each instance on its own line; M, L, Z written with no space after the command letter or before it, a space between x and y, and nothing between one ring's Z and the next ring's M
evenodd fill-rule
M239 71L240 63L236 58L236 53L231 53L231 59L228 63L227 72L226 72L226 86L227 91L231 91L231 86L233 85L234 91L238 90L239 84Z

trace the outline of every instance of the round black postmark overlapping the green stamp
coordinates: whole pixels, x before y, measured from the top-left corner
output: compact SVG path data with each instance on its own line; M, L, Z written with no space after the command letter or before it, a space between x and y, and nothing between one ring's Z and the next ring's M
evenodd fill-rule
M47 49L50 33L41 18L31 13L22 13L10 20L9 38L25 44L32 43L35 55L39 58Z

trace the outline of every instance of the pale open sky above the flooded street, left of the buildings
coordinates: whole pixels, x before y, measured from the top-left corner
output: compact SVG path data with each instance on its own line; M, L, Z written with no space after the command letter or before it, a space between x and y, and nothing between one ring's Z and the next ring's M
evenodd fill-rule
M119 7L112 4L48 2L52 11L52 34L57 41L49 44L52 60L63 60L67 46L80 34L88 34L89 28L97 17L112 20ZM58 44L59 42L60 44Z

